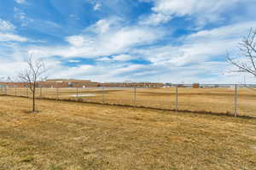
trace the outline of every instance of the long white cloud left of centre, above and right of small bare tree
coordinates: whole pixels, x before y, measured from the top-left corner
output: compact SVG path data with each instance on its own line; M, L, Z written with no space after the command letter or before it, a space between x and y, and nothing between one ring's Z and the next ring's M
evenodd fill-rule
M70 43L67 47L39 47L38 51L44 56L96 58L124 54L131 48L151 44L162 38L164 34L162 30L147 26L109 27L106 31L96 31L96 34L92 35L91 32L85 32L66 37L67 42Z

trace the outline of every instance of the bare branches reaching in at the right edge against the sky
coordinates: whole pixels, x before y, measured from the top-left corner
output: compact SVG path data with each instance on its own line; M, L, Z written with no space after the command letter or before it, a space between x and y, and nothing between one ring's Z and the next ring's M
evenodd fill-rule
M249 73L256 77L256 29L250 29L247 37L243 37L238 44L240 59L231 58L227 54L227 59L231 65L235 65L236 72Z

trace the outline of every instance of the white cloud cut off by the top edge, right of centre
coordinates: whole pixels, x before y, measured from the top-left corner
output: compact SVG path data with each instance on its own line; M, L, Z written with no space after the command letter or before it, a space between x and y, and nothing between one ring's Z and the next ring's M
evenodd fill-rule
M181 16L194 17L198 26L205 26L207 23L224 20L224 13L241 5L239 0L155 0L152 2L154 2L152 8L154 14L149 14L148 18L143 17L141 22L154 26ZM250 0L245 0L242 4L256 6Z

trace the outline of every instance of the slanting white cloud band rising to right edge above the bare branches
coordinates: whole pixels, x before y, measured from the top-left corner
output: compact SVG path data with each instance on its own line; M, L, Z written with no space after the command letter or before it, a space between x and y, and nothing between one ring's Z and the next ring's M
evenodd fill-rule
M227 51L236 54L234 49L241 37L247 34L251 26L256 27L256 22L244 22L230 26L222 26L207 31L198 31L189 36L177 39L181 45L166 45L135 50L147 59L158 64L188 65L202 63L209 59L218 59ZM236 50L235 50L236 51Z

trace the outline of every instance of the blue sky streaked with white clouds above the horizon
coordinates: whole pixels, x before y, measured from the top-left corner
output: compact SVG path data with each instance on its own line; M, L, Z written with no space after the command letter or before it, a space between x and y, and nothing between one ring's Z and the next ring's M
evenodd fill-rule
M227 51L256 27L255 0L0 0L0 77L32 55L50 78L255 82Z

